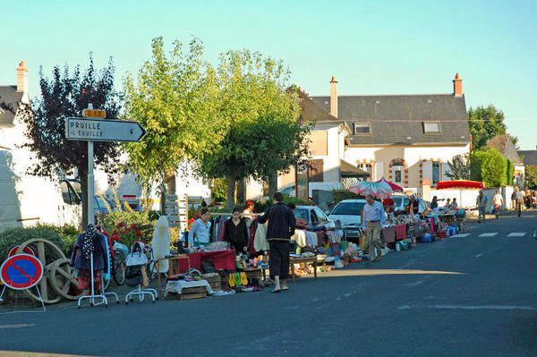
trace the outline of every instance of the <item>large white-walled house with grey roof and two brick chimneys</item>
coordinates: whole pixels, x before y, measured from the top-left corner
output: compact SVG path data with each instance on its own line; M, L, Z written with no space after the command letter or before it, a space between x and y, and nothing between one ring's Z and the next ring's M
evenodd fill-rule
M338 96L330 81L330 96L311 97L351 129L345 161L385 177L406 191L420 191L448 180L447 162L470 152L471 136L462 79L456 73L453 92L419 95Z

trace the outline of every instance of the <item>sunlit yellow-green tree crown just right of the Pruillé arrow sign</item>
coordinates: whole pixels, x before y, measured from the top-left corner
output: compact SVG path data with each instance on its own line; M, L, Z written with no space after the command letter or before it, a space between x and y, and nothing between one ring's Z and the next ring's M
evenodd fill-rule
M174 42L166 54L163 38L154 38L152 56L124 81L125 115L147 131L138 144L127 144L128 166L146 188L163 188L167 177L192 158L208 155L221 139L217 123L209 125L216 95L214 71L204 64L203 45Z

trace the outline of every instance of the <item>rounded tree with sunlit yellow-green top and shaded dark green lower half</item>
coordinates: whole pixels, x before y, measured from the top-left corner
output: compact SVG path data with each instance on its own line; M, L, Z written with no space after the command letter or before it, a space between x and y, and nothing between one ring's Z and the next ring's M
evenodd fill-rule
M248 50L228 51L220 55L216 74L215 120L225 137L213 155L203 157L200 172L226 178L230 207L238 180L268 180L296 161L305 131L298 122L296 93L286 90L289 72L281 61Z

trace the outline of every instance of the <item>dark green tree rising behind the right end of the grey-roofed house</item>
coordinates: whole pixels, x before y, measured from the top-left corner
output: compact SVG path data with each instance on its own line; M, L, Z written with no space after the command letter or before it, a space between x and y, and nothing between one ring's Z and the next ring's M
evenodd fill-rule
M485 148L487 140L505 134L507 131L507 126L504 123L505 115L495 106L470 107L468 116L473 149L475 150Z

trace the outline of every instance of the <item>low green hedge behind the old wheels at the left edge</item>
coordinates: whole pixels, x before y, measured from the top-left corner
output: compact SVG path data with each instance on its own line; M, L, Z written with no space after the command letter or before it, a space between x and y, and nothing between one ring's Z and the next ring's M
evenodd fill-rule
M20 245L23 242L30 241L30 239L45 239L53 242L62 250L66 257L71 255L71 248L67 247L60 237L60 234L53 229L44 227L30 227L30 228L12 228L6 229L0 233L0 260L4 261L7 256L7 251L13 247L13 245ZM57 257L47 257L47 261Z

